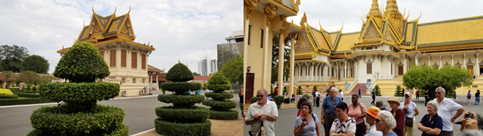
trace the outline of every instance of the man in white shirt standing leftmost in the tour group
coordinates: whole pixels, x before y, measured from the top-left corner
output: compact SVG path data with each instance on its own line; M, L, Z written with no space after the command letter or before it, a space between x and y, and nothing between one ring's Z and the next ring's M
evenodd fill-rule
M268 101L267 91L262 88L257 90L257 102L251 104L246 112L245 124L250 125L251 133L255 135L263 125L265 135L275 136L274 124L278 119L277 104L273 101Z

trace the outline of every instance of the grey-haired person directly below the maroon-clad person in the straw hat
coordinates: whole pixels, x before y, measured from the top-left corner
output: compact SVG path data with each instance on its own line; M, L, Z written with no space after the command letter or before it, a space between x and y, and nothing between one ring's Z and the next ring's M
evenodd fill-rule
M393 131L396 127L396 120L393 115L386 110L381 110L375 117L375 130L380 130L384 136L397 136Z

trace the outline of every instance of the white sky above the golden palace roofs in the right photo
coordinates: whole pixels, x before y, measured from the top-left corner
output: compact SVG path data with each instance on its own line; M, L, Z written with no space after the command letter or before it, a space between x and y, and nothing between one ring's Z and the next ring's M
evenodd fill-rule
M378 3L384 8L387 5L386 0L379 0ZM298 25L306 12L307 22L313 27L320 28L320 21L324 30L333 32L340 30L344 23L342 32L357 32L362 27L361 18L368 14L371 4L372 0L302 0L297 17L289 17L287 20L293 19ZM406 9L404 17L409 14L410 21L420 17L421 12L419 23L483 15L481 0L399 0L397 6L401 14Z

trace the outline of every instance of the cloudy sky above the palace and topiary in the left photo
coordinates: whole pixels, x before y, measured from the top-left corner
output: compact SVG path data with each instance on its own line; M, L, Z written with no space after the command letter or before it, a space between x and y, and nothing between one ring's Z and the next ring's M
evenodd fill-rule
M241 0L121 0L66 1L22 0L0 2L0 45L28 48L30 55L40 55L50 64L49 73L61 56L57 50L70 47L92 17L126 14L135 41L156 48L148 64L166 68L179 61L197 72L197 61L216 59L217 44L226 43L235 30L243 30Z

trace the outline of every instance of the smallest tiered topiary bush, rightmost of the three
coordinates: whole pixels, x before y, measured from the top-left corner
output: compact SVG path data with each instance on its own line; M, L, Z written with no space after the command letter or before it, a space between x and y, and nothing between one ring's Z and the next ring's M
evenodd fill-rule
M228 100L233 98L233 94L224 92L225 90L231 89L231 85L228 84L228 79L226 79L221 72L215 72L215 74L208 79L208 84L206 84L206 87L209 90L215 90L214 93L205 94L206 97L211 97L213 100L203 101L204 105L211 107L210 119L238 119L238 111L231 110L232 108L237 107L237 102Z

